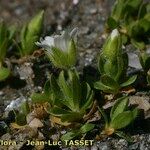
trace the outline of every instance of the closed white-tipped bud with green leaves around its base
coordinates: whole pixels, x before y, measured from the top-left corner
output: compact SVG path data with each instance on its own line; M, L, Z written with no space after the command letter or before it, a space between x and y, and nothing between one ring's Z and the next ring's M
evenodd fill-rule
M127 77L128 57L122 51L121 35L114 29L105 41L99 56L100 81L94 83L96 89L106 93L119 93L120 89L132 84L137 76Z

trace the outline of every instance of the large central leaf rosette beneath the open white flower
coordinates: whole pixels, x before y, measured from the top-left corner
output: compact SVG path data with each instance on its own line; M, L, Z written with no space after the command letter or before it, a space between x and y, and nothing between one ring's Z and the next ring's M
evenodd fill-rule
M52 75L44 93L31 97L33 102L48 101L51 107L47 111L62 122L79 122L93 104L93 91L87 83L80 83L75 70L62 71L58 80Z

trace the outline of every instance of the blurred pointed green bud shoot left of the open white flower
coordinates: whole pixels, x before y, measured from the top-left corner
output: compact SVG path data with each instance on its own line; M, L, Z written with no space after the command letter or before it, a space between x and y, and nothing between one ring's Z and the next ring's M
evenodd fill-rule
M27 56L36 50L35 42L39 40L44 21L44 11L40 11L31 21L25 24L20 33L20 44L17 45L20 55Z

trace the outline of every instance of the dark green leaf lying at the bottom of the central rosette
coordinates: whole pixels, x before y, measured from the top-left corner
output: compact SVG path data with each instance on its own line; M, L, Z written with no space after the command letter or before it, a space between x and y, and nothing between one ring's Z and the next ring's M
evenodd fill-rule
M83 115L85 112L70 112L69 114L64 114L61 116L61 121L62 122L78 122L83 118Z

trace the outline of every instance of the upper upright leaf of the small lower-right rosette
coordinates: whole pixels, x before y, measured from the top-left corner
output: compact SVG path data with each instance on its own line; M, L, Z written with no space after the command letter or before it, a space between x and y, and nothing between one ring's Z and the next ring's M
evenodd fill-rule
M121 97L116 100L115 104L111 108L110 118L113 120L116 116L122 113L129 104L129 98L127 96Z

